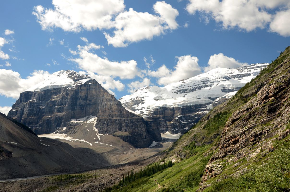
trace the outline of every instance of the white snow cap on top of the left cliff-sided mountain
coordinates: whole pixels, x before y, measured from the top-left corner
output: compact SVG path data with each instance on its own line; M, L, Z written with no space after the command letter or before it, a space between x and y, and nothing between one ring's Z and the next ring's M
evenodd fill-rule
M74 70L61 70L52 73L49 77L30 87L26 91L42 91L46 89L59 88L59 87L73 87L76 85L84 84L90 80L88 75L83 75L75 72Z

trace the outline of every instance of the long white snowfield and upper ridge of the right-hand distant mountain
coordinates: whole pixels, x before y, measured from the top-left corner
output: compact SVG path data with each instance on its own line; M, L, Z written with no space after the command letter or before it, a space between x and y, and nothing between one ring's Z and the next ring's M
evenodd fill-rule
M132 111L148 114L154 108L209 104L239 90L268 64L251 64L236 69L216 68L164 87L146 86L119 101Z

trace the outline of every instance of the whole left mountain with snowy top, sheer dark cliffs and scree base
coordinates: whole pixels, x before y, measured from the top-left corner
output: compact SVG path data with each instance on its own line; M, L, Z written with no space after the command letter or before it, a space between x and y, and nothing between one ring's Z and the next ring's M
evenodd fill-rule
M135 147L161 140L158 126L128 111L95 79L73 70L55 72L21 93L8 116L38 135L54 134L88 144L102 143L100 137L105 134ZM86 128L88 124L92 126Z

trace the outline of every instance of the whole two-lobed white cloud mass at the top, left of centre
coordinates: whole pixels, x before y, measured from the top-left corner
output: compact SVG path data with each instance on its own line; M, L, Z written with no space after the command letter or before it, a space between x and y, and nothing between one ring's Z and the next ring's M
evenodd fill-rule
M132 42L151 40L166 30L178 27L175 18L178 11L165 1L153 5L155 15L125 10L123 0L53 0L53 8L39 5L33 14L43 30L61 28L64 31L113 29L113 34L104 32L108 44L126 47Z

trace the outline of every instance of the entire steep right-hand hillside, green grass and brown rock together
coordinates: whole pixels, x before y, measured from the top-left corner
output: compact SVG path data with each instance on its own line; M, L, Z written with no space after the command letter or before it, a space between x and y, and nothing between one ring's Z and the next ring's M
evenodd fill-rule
M287 47L165 152L171 168L118 191L290 191L289 73Z

